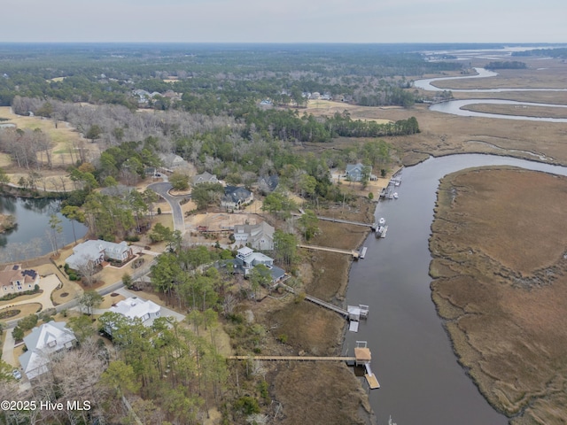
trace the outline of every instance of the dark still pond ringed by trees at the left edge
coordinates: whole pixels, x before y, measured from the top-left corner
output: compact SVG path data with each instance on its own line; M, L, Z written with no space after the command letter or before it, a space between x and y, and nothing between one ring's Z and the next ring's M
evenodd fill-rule
M58 247L81 238L87 228L81 223L67 220L59 213L61 202L54 199L28 199L0 197L0 213L16 216L18 227L0 235L0 263L33 259L53 251L46 231L50 229L50 215L61 220L62 232Z

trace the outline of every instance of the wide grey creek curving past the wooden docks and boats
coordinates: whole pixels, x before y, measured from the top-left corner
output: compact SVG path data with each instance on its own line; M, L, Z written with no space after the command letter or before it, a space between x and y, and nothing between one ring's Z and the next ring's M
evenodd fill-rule
M474 166L517 166L567 175L567 167L517 158L460 154L429 158L405 168L400 198L381 201L376 218L385 239L369 235L366 258L353 263L348 303L370 306L358 333L346 332L343 353L368 341L372 369L382 388L369 394L379 424L503 425L508 418L489 406L457 363L431 300L429 236L439 179Z

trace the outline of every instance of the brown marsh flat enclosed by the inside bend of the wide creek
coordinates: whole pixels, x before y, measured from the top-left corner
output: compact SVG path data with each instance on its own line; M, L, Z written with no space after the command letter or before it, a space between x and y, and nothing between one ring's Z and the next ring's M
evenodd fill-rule
M451 174L439 190L432 298L460 362L512 423L564 423L566 185L481 169Z

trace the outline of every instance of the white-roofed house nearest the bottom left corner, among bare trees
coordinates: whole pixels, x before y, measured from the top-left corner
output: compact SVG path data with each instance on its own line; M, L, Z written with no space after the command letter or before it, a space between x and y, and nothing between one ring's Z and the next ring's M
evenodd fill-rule
M27 375L34 379L49 370L51 360L59 359L63 353L77 344L77 338L63 321L50 321L32 329L24 336L27 352L19 356L19 364Z

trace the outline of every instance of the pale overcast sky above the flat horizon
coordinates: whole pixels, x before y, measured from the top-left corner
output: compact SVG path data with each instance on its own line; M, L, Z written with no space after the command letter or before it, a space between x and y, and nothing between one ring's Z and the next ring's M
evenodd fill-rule
M0 42L567 42L565 0L3 0Z

